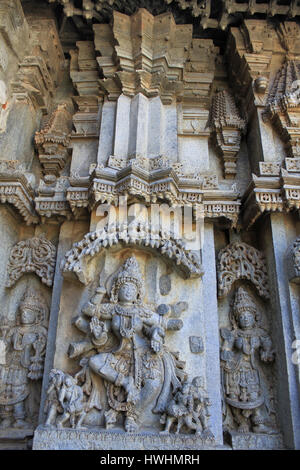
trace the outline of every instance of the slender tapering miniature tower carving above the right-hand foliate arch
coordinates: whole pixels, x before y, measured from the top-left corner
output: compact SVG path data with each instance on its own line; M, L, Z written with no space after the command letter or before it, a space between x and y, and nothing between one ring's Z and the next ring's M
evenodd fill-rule
M233 96L223 90L213 98L210 123L224 159L225 178L236 175L236 160L246 122L239 115Z

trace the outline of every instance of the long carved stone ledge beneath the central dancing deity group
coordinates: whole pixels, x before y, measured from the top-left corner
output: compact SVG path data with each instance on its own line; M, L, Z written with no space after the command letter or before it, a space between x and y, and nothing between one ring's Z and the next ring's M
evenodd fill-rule
M147 432L125 433L87 429L51 429L39 426L34 433L34 450L215 450L225 446L196 435Z

